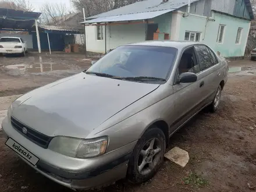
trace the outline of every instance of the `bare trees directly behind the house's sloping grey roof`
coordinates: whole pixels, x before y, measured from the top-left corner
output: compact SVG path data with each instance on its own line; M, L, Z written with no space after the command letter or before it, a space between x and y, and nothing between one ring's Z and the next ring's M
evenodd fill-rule
M87 17L117 9L137 1L145 0L70 0L77 11L81 12L81 9L85 8Z

